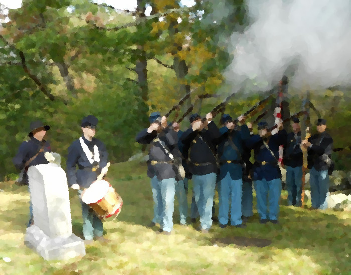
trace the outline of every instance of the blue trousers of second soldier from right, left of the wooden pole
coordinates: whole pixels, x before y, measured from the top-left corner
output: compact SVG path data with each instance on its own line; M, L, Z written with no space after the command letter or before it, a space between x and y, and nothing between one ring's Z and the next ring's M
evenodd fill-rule
M302 166L289 167L286 166L286 187L288 191L288 206L292 205L293 190L296 189L296 206L301 206L302 195Z

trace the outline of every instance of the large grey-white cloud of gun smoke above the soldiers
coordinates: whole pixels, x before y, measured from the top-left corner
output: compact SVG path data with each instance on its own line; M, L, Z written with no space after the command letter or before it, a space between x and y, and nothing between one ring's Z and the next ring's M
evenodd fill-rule
M351 86L351 1L247 0L250 25L229 40L225 76L254 90L286 73L290 87ZM251 86L251 85L250 85Z

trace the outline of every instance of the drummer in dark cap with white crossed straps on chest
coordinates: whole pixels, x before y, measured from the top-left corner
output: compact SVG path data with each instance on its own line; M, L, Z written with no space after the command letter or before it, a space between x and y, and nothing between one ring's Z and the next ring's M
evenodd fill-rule
M81 194L83 189L88 188L100 173L107 172L108 153L104 143L94 138L98 119L93 115L84 117L81 123L83 135L75 140L68 148L67 181L72 189ZM76 171L76 165L78 170ZM89 205L81 201L83 216L83 235L85 244L90 244L95 237L97 240L106 242L103 238L102 221L98 218Z

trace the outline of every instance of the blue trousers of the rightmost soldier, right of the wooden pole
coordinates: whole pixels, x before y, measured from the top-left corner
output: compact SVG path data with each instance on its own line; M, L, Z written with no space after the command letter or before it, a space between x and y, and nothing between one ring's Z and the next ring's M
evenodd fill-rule
M328 203L326 197L329 189L328 171L316 171L314 167L309 172L309 184L311 186L311 202L313 208L326 209Z

